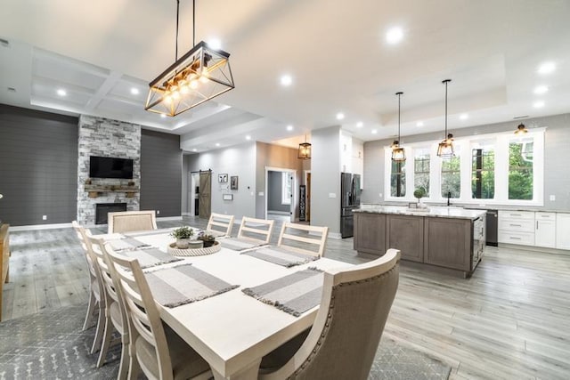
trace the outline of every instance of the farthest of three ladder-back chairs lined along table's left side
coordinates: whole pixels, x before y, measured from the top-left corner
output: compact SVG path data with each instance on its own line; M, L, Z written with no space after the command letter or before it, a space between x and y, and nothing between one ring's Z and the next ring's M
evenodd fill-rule
M85 315L85 322L83 329L87 329L92 324L92 319L95 314L97 315L97 324L95 329L95 337L91 346L91 353L96 352L101 348L102 336L105 327L105 309L106 303L104 299L103 282L101 279L101 271L96 264L96 257L91 248L91 244L87 241L88 230L81 227L77 221L71 222L73 229L77 234L77 238L81 243L81 247L85 253L85 261L87 262L87 269L89 270L89 303L87 304L87 314Z

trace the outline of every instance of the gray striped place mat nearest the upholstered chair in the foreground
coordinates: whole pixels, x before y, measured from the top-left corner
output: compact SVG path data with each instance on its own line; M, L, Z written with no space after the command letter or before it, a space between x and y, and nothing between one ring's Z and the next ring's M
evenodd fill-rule
M241 291L298 317L321 303L322 281L322 271L309 268Z

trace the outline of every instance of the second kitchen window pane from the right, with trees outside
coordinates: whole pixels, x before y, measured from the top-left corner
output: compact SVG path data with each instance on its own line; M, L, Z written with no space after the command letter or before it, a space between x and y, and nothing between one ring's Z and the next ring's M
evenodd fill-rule
M495 197L495 152L493 146L478 146L472 150L471 197L493 199Z

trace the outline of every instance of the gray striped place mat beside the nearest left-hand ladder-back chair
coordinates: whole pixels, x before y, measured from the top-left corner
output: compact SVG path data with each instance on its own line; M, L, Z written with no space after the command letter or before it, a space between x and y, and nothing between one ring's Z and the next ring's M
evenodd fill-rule
M231 285L223 279L200 271L191 264L145 273L152 295L163 306L176 307L193 303L213 295L230 291L239 285Z

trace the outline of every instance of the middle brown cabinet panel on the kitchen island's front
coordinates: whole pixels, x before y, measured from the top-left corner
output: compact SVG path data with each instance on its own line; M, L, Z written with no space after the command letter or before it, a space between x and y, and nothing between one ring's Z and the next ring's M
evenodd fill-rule
M399 249L403 260L424 261L424 218L387 215L387 249Z

